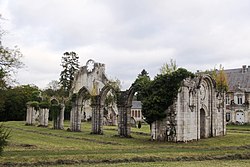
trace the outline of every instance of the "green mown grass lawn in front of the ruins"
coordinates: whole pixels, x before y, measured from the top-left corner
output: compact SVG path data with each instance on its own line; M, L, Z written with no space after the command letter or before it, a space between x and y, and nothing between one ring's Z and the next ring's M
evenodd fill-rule
M105 126L104 135L68 132L5 122L12 129L0 166L247 166L250 164L250 126L228 127L227 135L189 143L150 141L149 126L132 128L132 138L117 136ZM65 129L69 122L65 122Z

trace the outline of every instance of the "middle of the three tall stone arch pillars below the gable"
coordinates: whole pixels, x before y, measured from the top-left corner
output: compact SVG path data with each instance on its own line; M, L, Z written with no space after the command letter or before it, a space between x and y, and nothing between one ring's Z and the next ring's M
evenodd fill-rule
M100 96L93 96L92 107L92 134L103 134L103 109L100 104Z

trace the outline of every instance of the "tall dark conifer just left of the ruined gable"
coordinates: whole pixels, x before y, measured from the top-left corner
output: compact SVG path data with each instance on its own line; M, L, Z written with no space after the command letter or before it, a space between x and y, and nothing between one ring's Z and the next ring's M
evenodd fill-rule
M65 52L62 56L63 71L60 74L60 84L65 96L69 95L74 80L74 73L79 69L79 57L75 52Z

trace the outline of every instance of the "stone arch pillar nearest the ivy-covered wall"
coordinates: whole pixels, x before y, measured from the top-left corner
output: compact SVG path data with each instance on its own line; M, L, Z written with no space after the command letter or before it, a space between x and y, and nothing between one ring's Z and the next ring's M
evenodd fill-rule
M120 92L118 98L118 135L121 137L131 137L131 122L130 122L130 109L131 106L127 105L127 92Z

